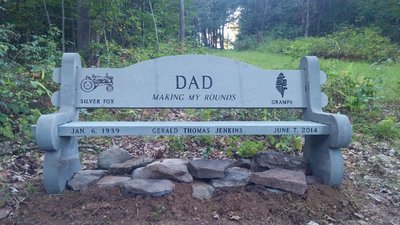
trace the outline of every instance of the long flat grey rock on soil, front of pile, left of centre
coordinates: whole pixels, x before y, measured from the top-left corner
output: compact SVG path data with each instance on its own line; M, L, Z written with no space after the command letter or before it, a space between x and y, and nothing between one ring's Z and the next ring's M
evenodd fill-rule
M175 189L175 184L170 180L134 179L121 182L121 189L127 194L163 196Z

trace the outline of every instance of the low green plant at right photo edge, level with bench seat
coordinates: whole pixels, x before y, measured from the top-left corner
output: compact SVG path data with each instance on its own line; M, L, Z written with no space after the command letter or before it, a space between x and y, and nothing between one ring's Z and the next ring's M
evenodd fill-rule
M381 120L372 127L376 137L388 141L400 140L400 123L395 117L388 117Z

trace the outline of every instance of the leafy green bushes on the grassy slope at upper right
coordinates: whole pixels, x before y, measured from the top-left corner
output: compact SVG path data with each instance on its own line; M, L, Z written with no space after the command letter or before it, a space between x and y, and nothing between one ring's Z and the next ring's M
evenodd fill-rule
M293 42L277 40L267 49L298 60L305 55L386 63L399 60L399 46L380 34L379 29L344 27L324 37L299 38Z

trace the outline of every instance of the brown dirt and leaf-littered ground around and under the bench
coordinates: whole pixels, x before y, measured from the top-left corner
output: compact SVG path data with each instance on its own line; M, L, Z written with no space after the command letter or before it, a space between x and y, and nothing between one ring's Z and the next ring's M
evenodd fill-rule
M158 198L96 187L48 195L41 181L43 154L34 145L3 142L0 224L400 224L399 155L386 142L361 134L354 139L343 149L346 171L340 188L315 184L297 196L247 186L217 190L210 200L193 198L189 184L176 184L173 193ZM214 141L215 146L226 142L224 137ZM83 139L83 168L95 168L98 153L112 145L155 158L200 157L205 149L196 138L183 152L174 151L163 137ZM226 157L218 147L207 155Z

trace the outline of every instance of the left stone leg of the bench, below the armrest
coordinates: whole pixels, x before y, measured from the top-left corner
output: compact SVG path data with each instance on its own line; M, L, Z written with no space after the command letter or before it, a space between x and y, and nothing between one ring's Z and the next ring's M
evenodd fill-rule
M68 180L79 170L81 170L81 164L77 138L65 138L59 149L45 154L43 181L46 192L48 194L62 193Z

